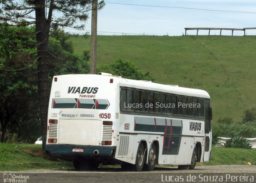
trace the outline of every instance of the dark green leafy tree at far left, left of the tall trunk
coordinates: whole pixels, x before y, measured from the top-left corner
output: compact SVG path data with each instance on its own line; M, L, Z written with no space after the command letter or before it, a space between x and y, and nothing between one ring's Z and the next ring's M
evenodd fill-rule
M26 32L26 36L22 32ZM1 142L6 141L6 131L10 124L12 124L12 129L17 129L20 121L29 119L38 121L36 115L38 102L35 100L37 99L37 83L31 74L37 69L36 49L31 44L35 41L33 34L33 27L0 25ZM15 68L26 69L15 70Z

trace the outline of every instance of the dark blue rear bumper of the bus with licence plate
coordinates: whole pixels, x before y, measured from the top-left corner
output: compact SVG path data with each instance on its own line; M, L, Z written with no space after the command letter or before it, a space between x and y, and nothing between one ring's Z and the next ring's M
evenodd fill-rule
M55 157L61 156L111 156L115 147L87 146L72 144L46 144L46 154Z

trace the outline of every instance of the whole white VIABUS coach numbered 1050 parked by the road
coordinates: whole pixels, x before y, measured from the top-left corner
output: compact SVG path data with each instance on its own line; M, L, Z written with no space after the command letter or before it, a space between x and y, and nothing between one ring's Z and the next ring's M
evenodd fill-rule
M45 149L78 170L100 163L194 169L210 159L211 119L203 90L106 73L54 76Z

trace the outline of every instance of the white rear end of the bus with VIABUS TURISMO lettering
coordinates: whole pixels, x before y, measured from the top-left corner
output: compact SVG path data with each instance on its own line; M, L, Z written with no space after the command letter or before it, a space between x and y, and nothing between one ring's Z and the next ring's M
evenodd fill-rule
M113 159L118 78L54 76L48 109L46 153L74 160L76 169ZM88 167L87 166L87 167Z

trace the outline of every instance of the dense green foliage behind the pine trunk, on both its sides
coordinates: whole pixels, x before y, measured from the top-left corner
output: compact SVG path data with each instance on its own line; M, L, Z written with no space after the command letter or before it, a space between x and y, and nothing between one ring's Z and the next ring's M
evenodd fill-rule
M23 34L26 32L26 35ZM1 142L33 143L40 135L34 26L0 25ZM73 54L70 35L54 30L49 38L49 76L86 74L89 62ZM34 58L34 59L33 59ZM28 62L33 60L32 62ZM26 68L18 69L14 68ZM6 135L6 131L8 134ZM7 137L6 137L7 136Z

